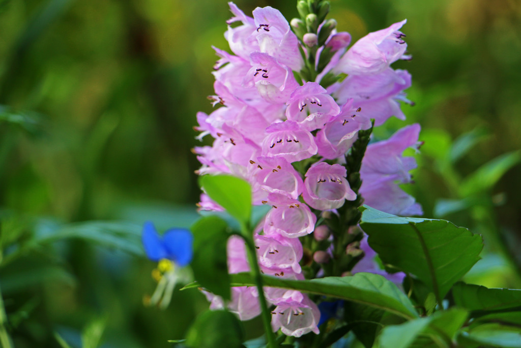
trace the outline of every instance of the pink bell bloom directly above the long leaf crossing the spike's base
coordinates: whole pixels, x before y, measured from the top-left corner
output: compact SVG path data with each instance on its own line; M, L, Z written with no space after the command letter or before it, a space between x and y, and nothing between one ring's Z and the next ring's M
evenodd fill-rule
M278 234L255 235L255 245L259 264L274 270L291 268L300 273L299 261L302 258L302 244L299 238L286 238Z

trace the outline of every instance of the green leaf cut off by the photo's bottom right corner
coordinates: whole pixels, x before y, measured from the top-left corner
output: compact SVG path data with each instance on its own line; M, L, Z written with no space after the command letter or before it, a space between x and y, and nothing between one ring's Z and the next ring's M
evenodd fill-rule
M458 342L466 343L469 341L479 345L521 348L521 329L499 323L487 323L462 332L458 337Z

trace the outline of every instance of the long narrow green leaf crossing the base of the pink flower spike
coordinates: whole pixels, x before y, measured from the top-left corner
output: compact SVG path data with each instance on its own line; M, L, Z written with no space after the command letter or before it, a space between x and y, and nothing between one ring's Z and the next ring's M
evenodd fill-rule
M254 286L250 273L231 274L233 286ZM406 319L418 317L413 304L394 283L373 273L352 277L326 277L312 280L289 280L263 275L264 286L347 299L388 311Z

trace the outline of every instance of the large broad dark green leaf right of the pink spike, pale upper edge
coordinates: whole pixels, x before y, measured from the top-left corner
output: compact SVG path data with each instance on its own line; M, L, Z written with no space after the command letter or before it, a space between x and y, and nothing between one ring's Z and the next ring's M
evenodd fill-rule
M482 238L449 221L401 218L364 206L362 229L383 263L423 281L438 302L479 260Z

